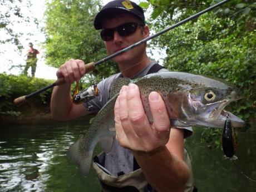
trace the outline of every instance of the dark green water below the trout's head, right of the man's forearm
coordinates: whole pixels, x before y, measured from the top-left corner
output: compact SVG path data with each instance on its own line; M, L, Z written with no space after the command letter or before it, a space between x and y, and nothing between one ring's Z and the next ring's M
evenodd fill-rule
M209 149L200 143L201 129L194 129L193 137L186 141L191 156L195 185L199 191L256 191L256 183L245 178L230 160L224 159L221 149ZM238 132L235 163L251 178L256 179L256 140L253 127L247 132ZM248 154L248 151L249 154Z

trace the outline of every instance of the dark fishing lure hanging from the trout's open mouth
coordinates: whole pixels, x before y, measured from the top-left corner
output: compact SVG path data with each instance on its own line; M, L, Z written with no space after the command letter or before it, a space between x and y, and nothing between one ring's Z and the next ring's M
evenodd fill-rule
M231 120L228 116L221 134L221 141L225 158L231 160L238 159L238 157L235 156L235 151L237 149L237 135L235 135Z

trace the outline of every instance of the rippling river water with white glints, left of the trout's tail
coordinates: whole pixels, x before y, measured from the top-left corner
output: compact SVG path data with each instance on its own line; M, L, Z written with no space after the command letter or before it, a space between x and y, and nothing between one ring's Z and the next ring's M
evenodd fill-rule
M70 122L1 127L0 191L100 191L96 176L84 178L66 157L85 127Z

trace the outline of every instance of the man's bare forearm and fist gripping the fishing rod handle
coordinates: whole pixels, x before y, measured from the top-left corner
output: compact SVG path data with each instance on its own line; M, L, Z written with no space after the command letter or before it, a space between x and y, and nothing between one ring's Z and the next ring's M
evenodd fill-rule
M85 75L85 63L82 60L70 60L57 71L58 78L64 77L63 85L55 86L51 97L51 115L55 120L66 121L90 114L83 104L73 104L70 95L71 83Z

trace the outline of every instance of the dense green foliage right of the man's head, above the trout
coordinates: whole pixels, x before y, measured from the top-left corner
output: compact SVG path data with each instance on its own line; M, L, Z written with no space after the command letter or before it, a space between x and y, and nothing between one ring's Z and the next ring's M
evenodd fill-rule
M151 25L160 31L219 1L149 2L154 8ZM219 77L234 83L243 99L228 110L245 122L256 117L255 10L254 1L230 1L155 38L150 45L165 50L168 56L164 66L171 71ZM203 140L218 145L219 135L218 131L206 130Z

